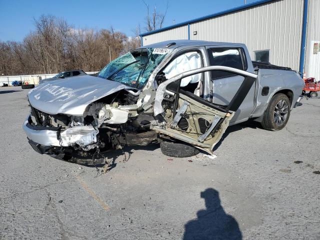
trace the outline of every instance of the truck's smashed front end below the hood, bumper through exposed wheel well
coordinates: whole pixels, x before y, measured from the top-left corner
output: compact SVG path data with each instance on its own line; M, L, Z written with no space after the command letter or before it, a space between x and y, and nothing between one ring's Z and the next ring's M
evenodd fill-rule
M101 152L123 145L156 143L157 134L149 129L154 118L138 114L138 96L132 93L123 89L110 94L78 116L49 114L30 105L23 124L28 142L38 153L83 164L103 163Z

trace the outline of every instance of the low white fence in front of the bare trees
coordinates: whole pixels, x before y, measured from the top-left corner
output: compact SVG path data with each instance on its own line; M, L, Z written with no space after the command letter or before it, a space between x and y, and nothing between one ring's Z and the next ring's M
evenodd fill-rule
M94 74L97 71L86 71L86 74ZM8 86L11 86L12 81L27 81L29 84L39 84L39 80L49 78L52 76L55 76L58 73L52 73L52 74L34 74L34 75L17 75L17 76L0 76L0 86L3 85L3 83L8 84Z

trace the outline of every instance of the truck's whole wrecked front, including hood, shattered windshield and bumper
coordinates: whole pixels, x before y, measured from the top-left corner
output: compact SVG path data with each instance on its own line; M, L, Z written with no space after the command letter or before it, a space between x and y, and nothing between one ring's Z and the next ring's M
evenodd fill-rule
M39 153L78 163L102 162L100 152L157 142L155 74L174 51L138 48L107 64L97 77L52 80L28 93L23 124Z

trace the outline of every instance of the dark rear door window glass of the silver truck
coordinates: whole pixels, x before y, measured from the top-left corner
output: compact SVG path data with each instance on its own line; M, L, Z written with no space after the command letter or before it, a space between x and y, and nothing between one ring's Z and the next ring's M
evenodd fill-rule
M208 49L211 66L229 66L244 70L243 55L240 49L213 48ZM234 73L226 71L211 71L211 78L232 76Z

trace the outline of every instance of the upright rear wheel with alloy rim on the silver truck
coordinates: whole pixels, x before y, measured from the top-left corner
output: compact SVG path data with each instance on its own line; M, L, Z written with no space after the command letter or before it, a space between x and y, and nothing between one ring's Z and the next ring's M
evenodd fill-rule
M262 127L272 131L282 129L289 119L290 107L290 100L285 94L278 93L272 96L263 114Z

